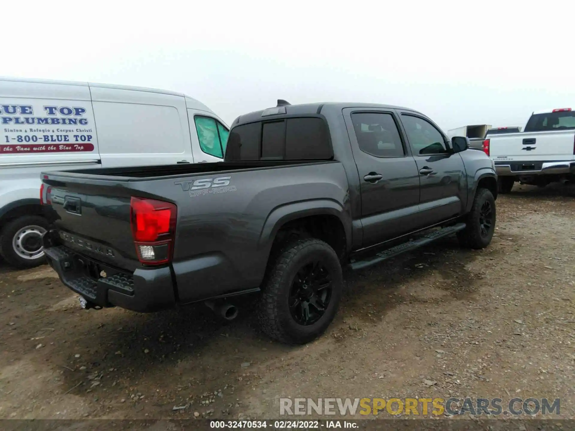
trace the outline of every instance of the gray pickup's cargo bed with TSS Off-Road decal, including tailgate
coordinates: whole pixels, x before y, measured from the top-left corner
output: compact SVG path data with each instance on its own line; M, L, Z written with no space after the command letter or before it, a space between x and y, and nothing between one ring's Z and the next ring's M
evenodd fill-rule
M293 211L317 199L338 211L347 203L346 173L334 160L217 162L42 175L50 188L51 202L45 208L52 213L56 243L98 265L130 273L138 268L146 272L136 254L131 199L177 206L171 265L183 303L227 293L232 281L236 289L258 286L271 247L265 242L267 230L274 217L284 216L286 202L293 202ZM198 280L209 280L210 291L198 291L194 287Z

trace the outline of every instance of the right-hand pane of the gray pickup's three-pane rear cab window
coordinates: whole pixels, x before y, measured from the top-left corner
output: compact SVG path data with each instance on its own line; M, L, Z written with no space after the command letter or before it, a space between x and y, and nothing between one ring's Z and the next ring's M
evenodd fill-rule
M286 160L325 160L333 156L327 127L321 118L289 118Z

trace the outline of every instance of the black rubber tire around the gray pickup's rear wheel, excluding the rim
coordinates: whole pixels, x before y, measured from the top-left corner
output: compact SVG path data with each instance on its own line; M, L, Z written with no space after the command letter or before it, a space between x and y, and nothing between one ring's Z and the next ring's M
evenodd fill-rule
M319 337L331 324L342 295L342 267L337 253L315 238L292 241L285 245L270 264L262 283L258 304L260 329L270 338L285 344L305 344ZM331 298L321 318L314 324L298 324L289 310L289 293L293 279L306 262L321 259L331 276Z

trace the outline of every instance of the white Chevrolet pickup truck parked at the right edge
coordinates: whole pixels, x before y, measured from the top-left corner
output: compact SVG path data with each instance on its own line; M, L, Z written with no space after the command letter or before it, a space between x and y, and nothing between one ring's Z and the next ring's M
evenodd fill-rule
M489 136L483 151L494 161L500 193L515 182L545 187L575 180L575 111L534 112L523 132Z

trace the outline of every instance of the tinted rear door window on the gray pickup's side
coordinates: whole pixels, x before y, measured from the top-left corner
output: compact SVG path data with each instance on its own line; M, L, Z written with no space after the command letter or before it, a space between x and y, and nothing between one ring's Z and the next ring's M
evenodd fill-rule
M375 157L401 157L405 155L397 125L392 114L351 114L355 136L361 151Z

